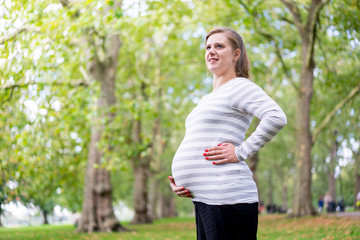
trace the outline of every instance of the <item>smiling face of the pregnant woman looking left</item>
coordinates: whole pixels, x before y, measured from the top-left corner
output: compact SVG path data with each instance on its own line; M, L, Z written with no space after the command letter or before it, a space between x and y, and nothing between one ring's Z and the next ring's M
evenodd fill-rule
M236 75L235 65L240 50L232 49L225 33L211 35L206 42L205 49L205 61L209 71L218 77L233 73Z

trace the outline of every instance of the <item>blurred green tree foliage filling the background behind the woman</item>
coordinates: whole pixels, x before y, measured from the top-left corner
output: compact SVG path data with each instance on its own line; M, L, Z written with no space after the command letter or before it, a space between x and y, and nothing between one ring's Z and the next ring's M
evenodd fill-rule
M297 1L305 11L309 1ZM123 1L123 8L98 15L112 1L3 0L0 20L0 201L21 201L51 212L55 205L80 211L90 121L99 86L85 71L86 52L102 56L104 36L119 32L122 42L116 119L106 126L99 148L109 144L114 201L132 205L129 160L147 154L153 125L161 115L166 146L151 163L152 179L166 189L171 160L184 134L184 120L211 91L204 64L204 37L225 25L245 39L251 78L288 116L288 125L259 154L258 184L265 203L291 205L294 175L295 90L300 74L300 39L279 1ZM316 126L360 82L358 1L334 0L320 16L317 34L311 124ZM13 36L12 36L13 35ZM9 37L11 36L11 37ZM95 36L95 37L94 37ZM84 44L87 41L93 47ZM90 42L90 43L89 43ZM282 58L279 58L279 54ZM285 67L285 65L286 67ZM145 95L144 95L145 93ZM146 96L146 97L144 97ZM313 149L313 198L327 192L331 145L337 151L337 196L354 203L359 152L359 97L336 112ZM132 123L142 121L142 145L131 142ZM253 128L253 127L252 127ZM334 131L338 134L334 136ZM353 154L351 154L351 152ZM341 185L340 185L341 184ZM283 193L285 192L285 199ZM3 205L2 205L3 206ZM177 200L180 214L189 202ZM1 212L0 212L1 213Z

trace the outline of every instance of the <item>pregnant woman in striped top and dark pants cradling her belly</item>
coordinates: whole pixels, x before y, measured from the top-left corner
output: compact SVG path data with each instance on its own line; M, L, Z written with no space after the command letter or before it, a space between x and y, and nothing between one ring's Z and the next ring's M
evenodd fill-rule
M170 186L179 197L192 199L198 240L256 239L258 192L245 160L286 125L286 116L248 80L250 64L237 32L215 28L205 48L213 91L185 121ZM260 123L245 140L253 116Z

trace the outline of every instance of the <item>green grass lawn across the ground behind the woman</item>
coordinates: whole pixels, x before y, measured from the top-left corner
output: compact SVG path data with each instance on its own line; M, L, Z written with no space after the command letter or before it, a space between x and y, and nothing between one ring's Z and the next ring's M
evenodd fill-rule
M40 226L0 229L1 240L64 240L64 239L119 239L119 240L187 240L196 239L193 218L171 218L154 221L153 224L124 224L133 232L78 234L75 227ZM258 240L267 239L316 239L360 240L360 219L334 216L289 219L285 215L260 216ZM225 239L224 239L225 240Z

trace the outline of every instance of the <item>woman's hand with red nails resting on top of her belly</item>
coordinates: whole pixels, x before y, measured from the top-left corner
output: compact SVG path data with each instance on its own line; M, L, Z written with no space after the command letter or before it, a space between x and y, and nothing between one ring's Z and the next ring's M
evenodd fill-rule
M235 146L231 143L220 143L216 147L208 148L204 156L215 165L239 162L235 154Z

